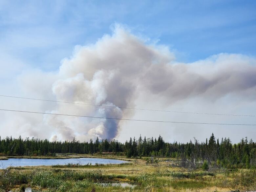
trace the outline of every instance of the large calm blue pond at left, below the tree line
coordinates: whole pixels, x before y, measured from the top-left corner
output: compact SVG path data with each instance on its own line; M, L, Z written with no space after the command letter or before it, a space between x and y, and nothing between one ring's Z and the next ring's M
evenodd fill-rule
M24 167L24 166L39 166L39 165L65 165L68 163L79 163L81 165L87 165L88 163L95 165L98 164L120 164L126 163L123 160L114 159L99 159L99 158L79 158L79 159L8 159L0 160L0 169L7 167Z

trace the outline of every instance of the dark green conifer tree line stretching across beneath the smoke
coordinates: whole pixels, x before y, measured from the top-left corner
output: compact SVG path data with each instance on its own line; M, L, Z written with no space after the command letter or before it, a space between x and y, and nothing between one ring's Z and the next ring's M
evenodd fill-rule
M203 142L194 139L187 143L165 142L161 136L158 139L144 139L139 136L130 138L122 143L118 140L102 139L90 142L80 142L75 138L72 141L49 141L21 137L14 139L0 137L0 155L4 156L52 156L56 153L71 154L116 154L129 158L137 157L165 157L177 160L183 167L202 165L204 160L211 166L220 167L256 167L256 143L247 137L239 143L232 143L229 138L215 139L212 134Z

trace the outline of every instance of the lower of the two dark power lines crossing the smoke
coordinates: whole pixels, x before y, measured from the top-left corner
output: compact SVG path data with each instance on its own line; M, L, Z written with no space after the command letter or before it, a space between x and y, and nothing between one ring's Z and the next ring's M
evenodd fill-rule
M187 123L187 124L206 124L206 125L246 125L255 126L256 124L231 124L231 123L201 123L201 122L181 122L181 121L156 121L156 120L143 120L143 119L124 119L124 118L111 118L111 117L93 117L93 116L80 116L80 115L68 115L68 114L57 114L57 113L43 113L43 112L33 112L33 111L17 111L9 109L0 109L1 111L11 111L11 112L22 112L22 113L36 113L36 114L47 114L47 115L63 115L72 117L89 117L89 118L100 118L100 119L114 119L114 120L129 120L129 121L148 121L148 122L162 122L162 123Z

